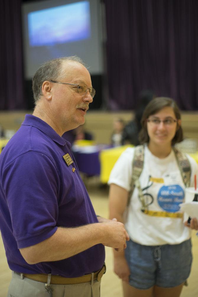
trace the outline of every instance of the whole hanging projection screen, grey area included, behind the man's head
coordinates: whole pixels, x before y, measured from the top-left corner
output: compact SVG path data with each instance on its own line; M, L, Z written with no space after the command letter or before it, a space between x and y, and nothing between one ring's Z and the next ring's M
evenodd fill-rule
M47 60L79 56L103 73L100 0L41 0L22 5L24 76Z

